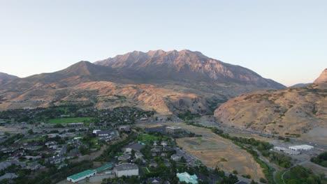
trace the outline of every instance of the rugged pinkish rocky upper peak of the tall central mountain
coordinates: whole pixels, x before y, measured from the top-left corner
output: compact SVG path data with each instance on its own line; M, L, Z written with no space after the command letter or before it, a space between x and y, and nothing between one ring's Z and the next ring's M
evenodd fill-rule
M95 64L115 68L123 75L132 76L142 82L185 79L195 82L223 82L254 84L272 89L284 88L282 84L264 79L252 70L233 66L216 59L211 59L201 52L187 49L164 52L130 52L114 58L96 61Z

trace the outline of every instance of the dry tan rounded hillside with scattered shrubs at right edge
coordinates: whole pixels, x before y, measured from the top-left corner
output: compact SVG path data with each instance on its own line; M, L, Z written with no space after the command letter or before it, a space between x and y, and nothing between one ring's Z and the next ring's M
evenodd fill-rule
M324 79L322 76L315 83ZM326 76L326 75L325 75ZM323 80L324 81L324 80ZM218 121L238 128L326 144L327 82L232 98L215 110Z

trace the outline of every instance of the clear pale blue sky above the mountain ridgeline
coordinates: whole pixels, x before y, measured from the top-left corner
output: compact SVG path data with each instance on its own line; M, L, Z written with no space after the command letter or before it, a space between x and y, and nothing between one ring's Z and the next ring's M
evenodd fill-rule
M327 1L0 0L0 71L191 49L289 86L327 68Z

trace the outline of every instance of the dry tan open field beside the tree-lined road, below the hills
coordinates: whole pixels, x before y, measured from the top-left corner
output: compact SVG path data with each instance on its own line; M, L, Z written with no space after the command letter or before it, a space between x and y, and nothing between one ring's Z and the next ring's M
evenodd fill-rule
M168 125L172 125L167 123ZM265 178L263 171L252 155L242 150L232 141L215 135L206 128L198 128L184 123L174 123L184 130L194 132L203 137L184 137L177 139L178 146L195 155L197 158L209 166L219 167L225 171L238 171L238 174L249 174L256 181Z

